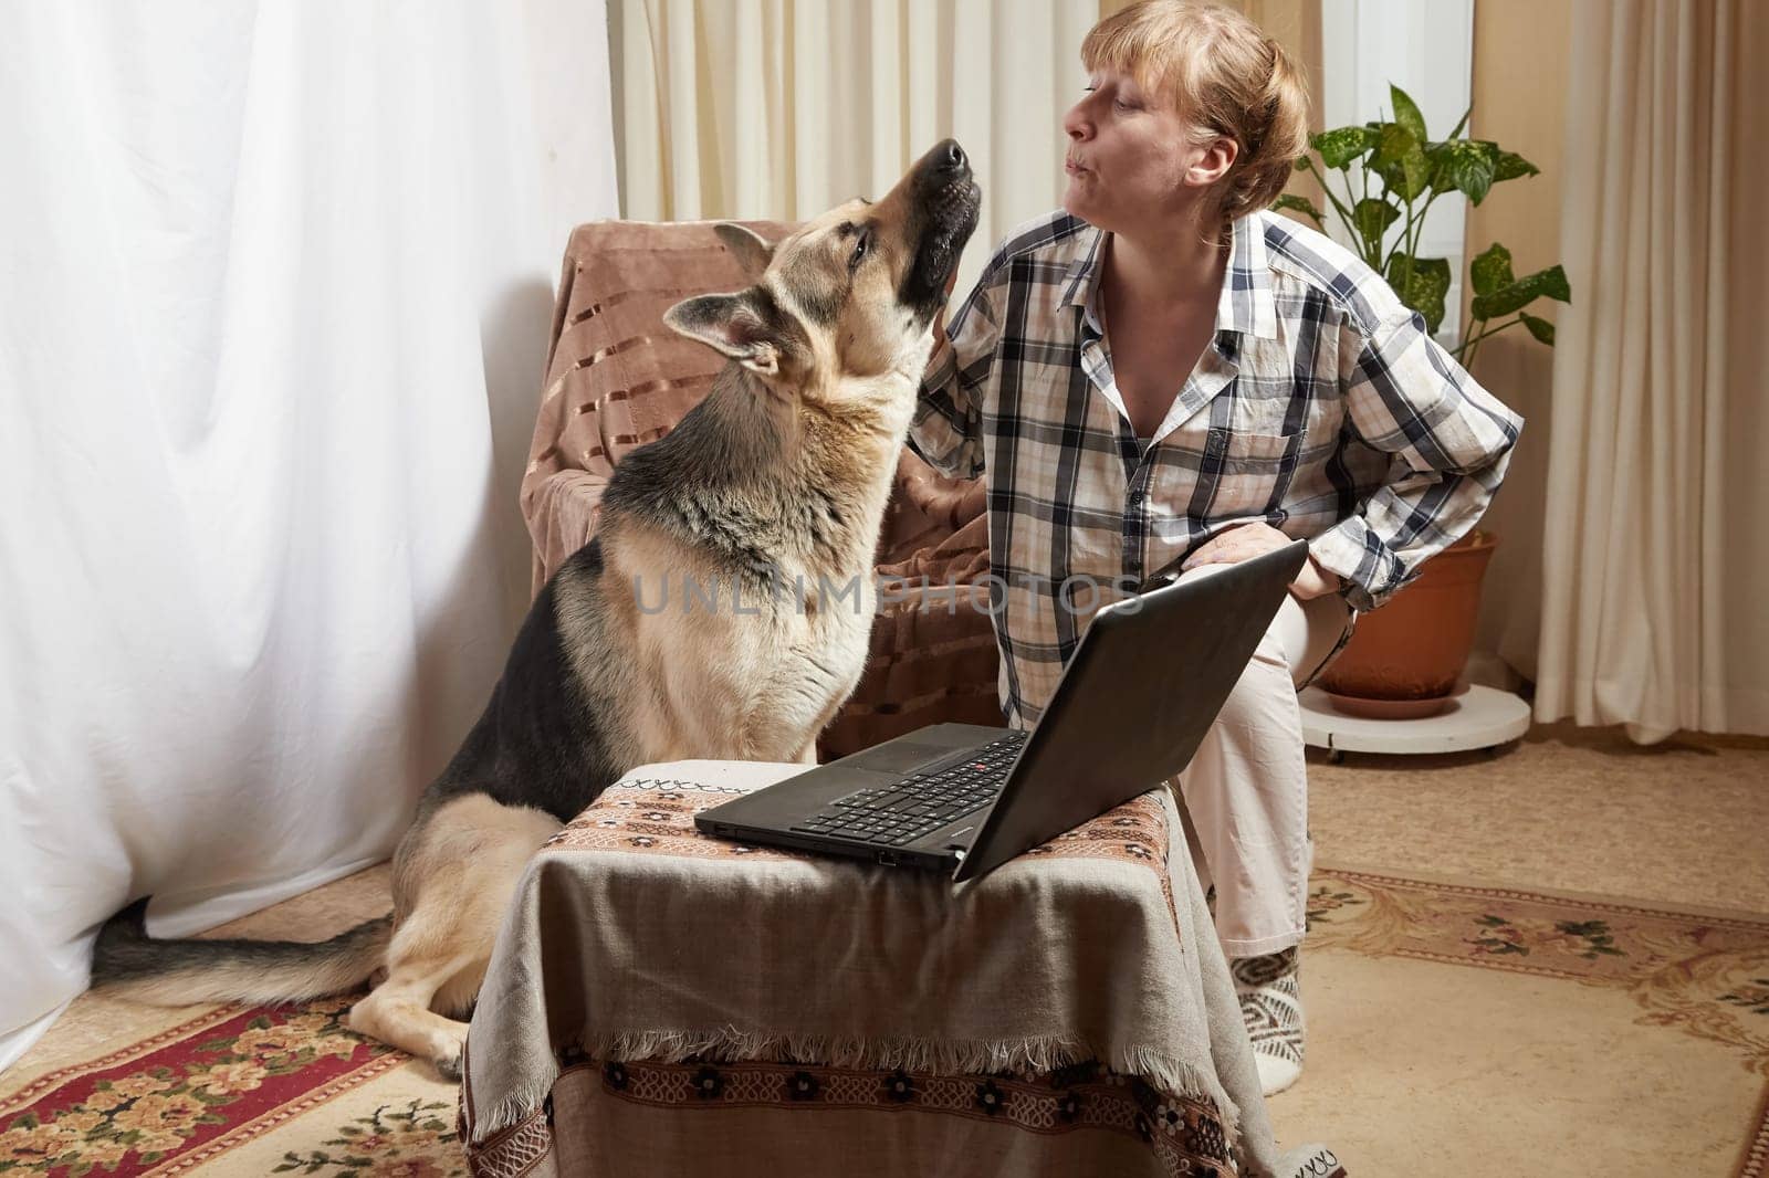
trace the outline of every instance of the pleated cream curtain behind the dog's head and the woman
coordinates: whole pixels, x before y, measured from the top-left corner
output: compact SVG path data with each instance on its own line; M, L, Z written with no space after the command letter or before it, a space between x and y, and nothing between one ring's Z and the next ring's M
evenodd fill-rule
M966 287L1010 228L1060 203L1081 39L1120 7L610 0L621 207L642 221L798 219L883 193L952 134L984 186ZM1320 60L1318 0L1242 7Z

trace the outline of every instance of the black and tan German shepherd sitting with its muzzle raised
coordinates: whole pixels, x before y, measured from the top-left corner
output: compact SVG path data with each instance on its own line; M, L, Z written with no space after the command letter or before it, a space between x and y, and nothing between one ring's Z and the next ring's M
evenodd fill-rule
M847 202L778 248L720 225L755 285L663 322L725 368L676 430L621 462L596 538L536 596L400 840L393 914L311 945L157 941L143 899L99 932L96 985L165 1005L295 1003L384 973L350 1028L458 1077L458 1017L524 867L610 782L690 757L814 764L865 665L884 502L978 203L946 140L877 203ZM708 585L741 607L708 601Z

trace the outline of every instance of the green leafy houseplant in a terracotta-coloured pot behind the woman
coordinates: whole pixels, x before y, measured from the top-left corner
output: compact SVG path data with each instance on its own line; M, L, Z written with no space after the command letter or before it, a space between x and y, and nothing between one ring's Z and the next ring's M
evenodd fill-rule
M1389 279L1401 302L1419 311L1435 336L1451 287L1447 258L1421 258L1426 212L1445 193L1463 193L1479 205L1493 184L1537 175L1539 168L1488 140L1463 136L1468 111L1444 140L1426 133L1417 103L1389 87L1394 117L1311 136L1313 154L1298 172L1320 180L1334 216L1359 256ZM1330 173L1337 173L1337 187ZM1293 209L1327 228L1327 212L1306 196L1286 193L1279 209ZM1449 352L1463 368L1486 340L1521 325L1553 347L1553 324L1525 308L1537 299L1569 302L1566 271L1518 278L1511 251L1493 242L1468 265L1474 290L1470 322ZM1382 610L1359 619L1357 633L1321 676L1321 686L1344 711L1421 716L1440 711L1456 692L1474 646L1481 577L1497 538L1474 531L1426 562L1406 589Z

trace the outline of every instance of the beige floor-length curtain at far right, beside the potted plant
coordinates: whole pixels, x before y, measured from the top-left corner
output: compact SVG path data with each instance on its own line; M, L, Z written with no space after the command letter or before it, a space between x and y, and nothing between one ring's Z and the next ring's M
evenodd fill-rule
M1769 734L1769 14L1573 28L1535 716Z

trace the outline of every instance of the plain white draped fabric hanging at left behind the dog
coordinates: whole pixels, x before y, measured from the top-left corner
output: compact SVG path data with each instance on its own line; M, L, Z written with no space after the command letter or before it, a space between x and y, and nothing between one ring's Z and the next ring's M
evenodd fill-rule
M18 4L0 37L0 1067L131 895L386 858L527 601L600 0Z

